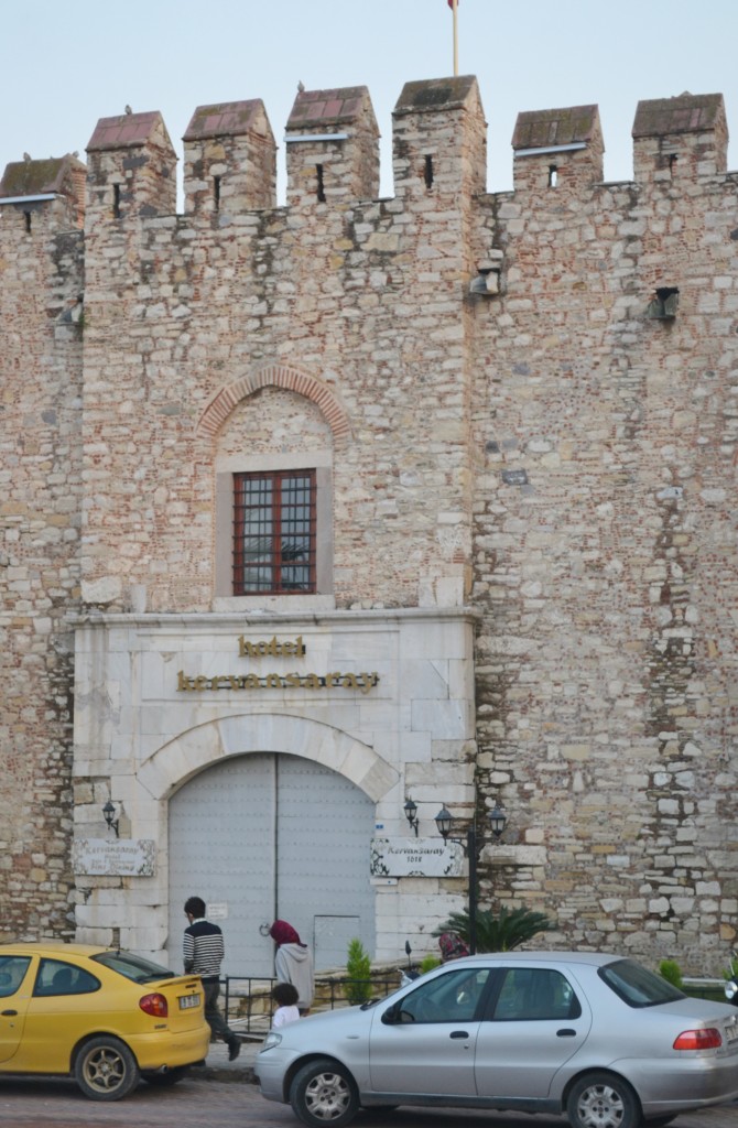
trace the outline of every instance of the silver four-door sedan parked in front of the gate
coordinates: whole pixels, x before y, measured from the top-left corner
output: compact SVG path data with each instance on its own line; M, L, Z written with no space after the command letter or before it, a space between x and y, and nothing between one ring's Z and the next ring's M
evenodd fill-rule
M256 1074L310 1128L398 1104L656 1128L738 1099L738 1010L687 998L630 959L494 952L270 1032Z

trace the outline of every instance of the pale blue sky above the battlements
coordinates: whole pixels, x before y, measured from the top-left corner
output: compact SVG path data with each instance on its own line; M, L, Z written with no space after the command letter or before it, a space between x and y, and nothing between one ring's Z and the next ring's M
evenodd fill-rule
M633 175L640 99L722 94L738 169L737 0L459 0L459 73L489 123L487 191L512 186L521 111L599 106L605 178ZM197 106L262 98L279 146L308 90L367 86L392 195L392 111L405 82L454 72L447 0L18 0L0 19L0 168L85 148L99 117L159 109L179 157Z

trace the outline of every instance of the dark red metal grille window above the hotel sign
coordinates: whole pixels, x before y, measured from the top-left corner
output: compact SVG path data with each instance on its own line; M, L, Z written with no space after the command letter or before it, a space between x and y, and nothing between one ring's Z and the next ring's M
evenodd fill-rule
M234 475L234 594L315 591L315 470Z

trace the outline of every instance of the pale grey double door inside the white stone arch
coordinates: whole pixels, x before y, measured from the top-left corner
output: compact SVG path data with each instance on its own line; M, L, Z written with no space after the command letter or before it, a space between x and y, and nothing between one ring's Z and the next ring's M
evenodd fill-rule
M236 756L194 776L169 802L172 967L182 963L192 893L223 929L228 975L273 973L260 928L278 916L310 944L318 970L342 967L352 936L374 952L374 826L364 792L300 756Z

